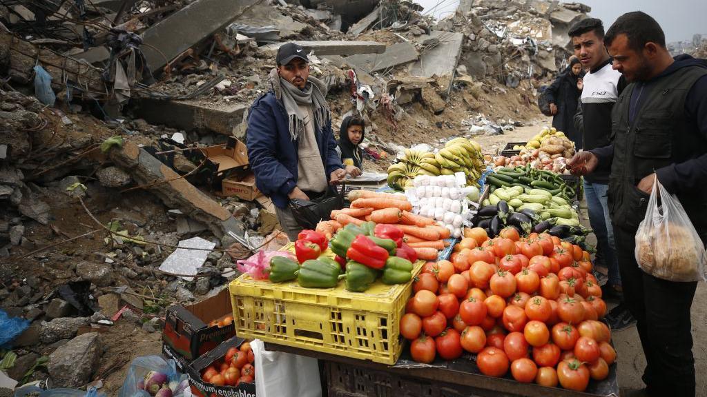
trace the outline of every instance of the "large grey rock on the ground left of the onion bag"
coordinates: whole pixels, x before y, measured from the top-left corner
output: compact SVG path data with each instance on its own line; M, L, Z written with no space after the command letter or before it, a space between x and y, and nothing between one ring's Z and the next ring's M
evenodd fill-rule
M49 355L49 377L54 387L77 388L91 380L103 355L98 332L84 333L69 340Z

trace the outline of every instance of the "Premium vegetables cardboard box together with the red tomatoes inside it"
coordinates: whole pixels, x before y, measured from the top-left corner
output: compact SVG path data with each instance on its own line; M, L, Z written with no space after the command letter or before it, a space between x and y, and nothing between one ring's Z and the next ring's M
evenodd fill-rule
M250 343L234 336L187 366L194 396L255 397L255 357Z

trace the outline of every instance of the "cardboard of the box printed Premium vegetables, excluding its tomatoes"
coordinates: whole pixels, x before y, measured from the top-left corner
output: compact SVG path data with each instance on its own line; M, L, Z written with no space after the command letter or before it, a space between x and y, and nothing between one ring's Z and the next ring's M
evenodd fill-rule
M190 365L187 365L187 377L189 377L189 385L192 389L192 394L199 397L210 396L233 396L233 397L255 397L255 382L242 383L238 386L216 386L207 383L201 379L201 370L209 367L214 361L223 359L226 352L230 348L238 348L245 342L245 339L234 336L226 342L221 343L218 348L211 350L206 355L194 360ZM257 368L255 374L257 376Z

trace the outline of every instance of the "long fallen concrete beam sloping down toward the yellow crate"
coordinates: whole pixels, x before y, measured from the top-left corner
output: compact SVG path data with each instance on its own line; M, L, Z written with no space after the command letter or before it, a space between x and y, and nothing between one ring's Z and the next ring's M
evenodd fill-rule
M149 184L146 189L158 196L166 206L178 208L189 218L206 224L216 237L243 237L243 227L226 208L135 143L127 141L122 148L112 148L109 154L111 160L132 174L138 184Z

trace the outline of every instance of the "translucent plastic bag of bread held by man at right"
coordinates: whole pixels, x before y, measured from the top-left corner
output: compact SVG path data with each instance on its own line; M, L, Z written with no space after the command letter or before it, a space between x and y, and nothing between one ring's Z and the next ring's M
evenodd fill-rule
M663 280L707 280L707 252L702 240L680 201L670 196L657 177L636 232L635 255L645 273Z

